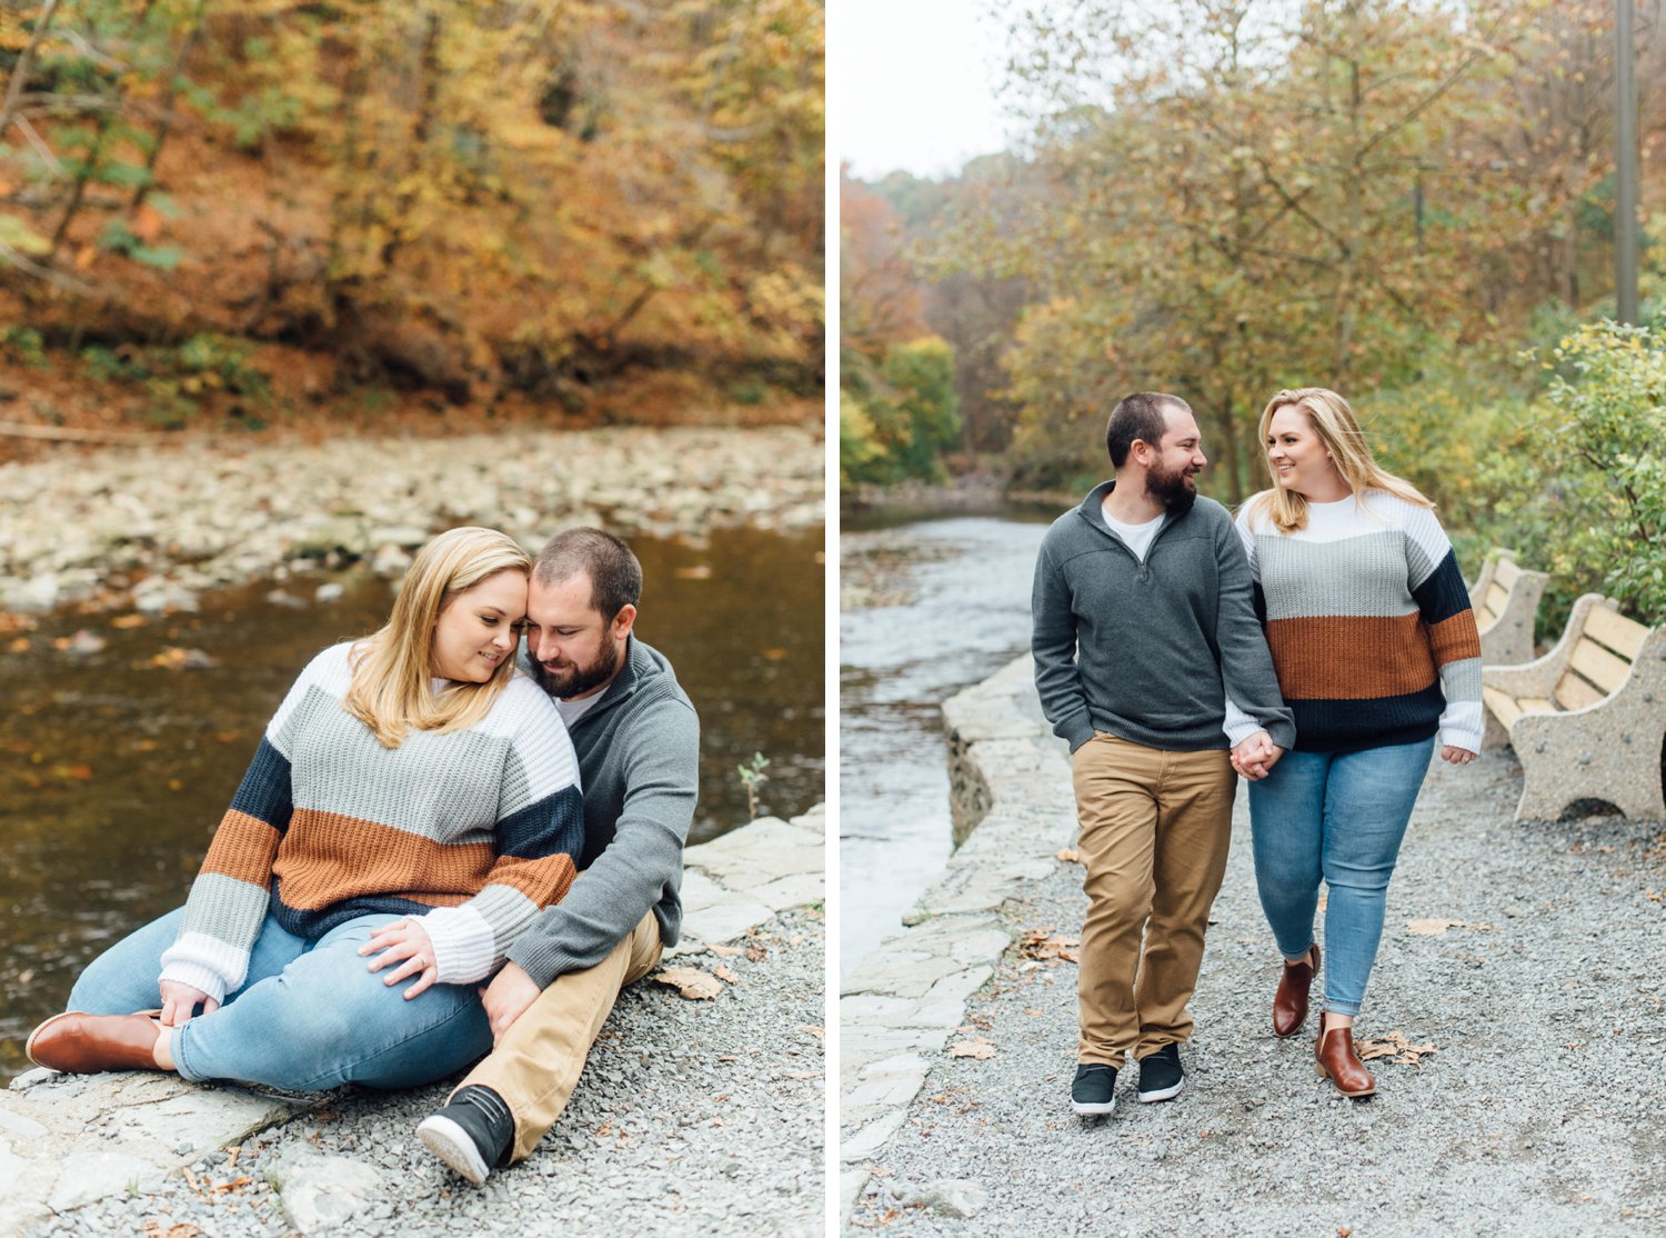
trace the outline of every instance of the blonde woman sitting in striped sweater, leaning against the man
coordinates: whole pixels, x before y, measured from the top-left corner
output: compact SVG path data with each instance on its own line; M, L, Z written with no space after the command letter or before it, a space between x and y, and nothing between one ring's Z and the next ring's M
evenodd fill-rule
M573 746L515 670L530 570L488 528L423 547L387 626L283 698L185 906L93 960L28 1056L317 1091L490 1050L476 986L583 848Z

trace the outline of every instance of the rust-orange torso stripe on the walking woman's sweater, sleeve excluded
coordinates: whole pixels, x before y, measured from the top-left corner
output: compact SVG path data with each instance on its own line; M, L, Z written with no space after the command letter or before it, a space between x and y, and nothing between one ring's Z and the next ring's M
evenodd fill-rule
M1396 618L1321 617L1266 625L1284 700L1376 700L1423 691L1434 656L1416 612Z

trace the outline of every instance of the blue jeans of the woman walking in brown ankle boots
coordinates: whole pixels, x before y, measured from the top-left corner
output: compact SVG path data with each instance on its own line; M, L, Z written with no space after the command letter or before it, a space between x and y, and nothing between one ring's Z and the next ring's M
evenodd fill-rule
M1324 905L1324 1008L1358 1015L1383 940L1388 878L1434 740L1363 751L1288 751L1250 783L1254 881L1284 958L1313 945Z

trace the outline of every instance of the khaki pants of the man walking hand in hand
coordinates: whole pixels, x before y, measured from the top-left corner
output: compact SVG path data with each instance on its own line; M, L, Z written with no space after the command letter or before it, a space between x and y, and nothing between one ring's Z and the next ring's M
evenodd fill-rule
M1160 751L1103 731L1071 766L1088 870L1076 1060L1121 1068L1128 1053L1191 1036L1186 1003L1226 875L1238 775L1225 751Z

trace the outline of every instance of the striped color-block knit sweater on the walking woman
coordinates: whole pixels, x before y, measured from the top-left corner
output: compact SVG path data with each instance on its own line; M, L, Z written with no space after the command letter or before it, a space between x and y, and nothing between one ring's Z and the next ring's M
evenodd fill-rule
M1381 490L1308 503L1279 533L1253 500L1238 535L1254 572L1301 751L1441 741L1481 750L1481 640L1434 513Z

